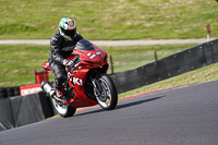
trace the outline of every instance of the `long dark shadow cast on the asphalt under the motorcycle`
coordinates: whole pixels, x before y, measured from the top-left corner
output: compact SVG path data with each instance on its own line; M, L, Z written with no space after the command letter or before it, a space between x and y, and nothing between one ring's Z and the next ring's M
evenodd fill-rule
M137 105L141 105L141 104L149 102L149 101L154 101L154 100L160 99L162 97L165 97L165 96L154 97L154 98L144 99L144 100L141 99L141 100L131 101L131 102L126 102L126 104L122 104L122 105L118 104L118 106L114 108L114 110L123 109L123 108L128 108L128 107L133 107L133 106L137 106ZM87 111L87 112L80 112L78 114L75 114L75 116L90 114L90 113L97 113L97 112L105 111L100 107L98 107L96 109L98 109L98 110L93 110L93 111Z

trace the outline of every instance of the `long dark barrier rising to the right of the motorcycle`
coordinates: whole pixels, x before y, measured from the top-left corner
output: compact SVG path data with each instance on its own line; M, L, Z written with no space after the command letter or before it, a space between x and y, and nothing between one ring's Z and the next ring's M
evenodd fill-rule
M218 61L218 39L174 53L135 70L112 74L118 93L162 81Z

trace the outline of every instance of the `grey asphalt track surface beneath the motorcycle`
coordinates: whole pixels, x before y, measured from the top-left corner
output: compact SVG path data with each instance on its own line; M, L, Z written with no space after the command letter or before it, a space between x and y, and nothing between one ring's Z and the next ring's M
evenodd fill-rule
M0 132L0 145L218 145L218 81Z

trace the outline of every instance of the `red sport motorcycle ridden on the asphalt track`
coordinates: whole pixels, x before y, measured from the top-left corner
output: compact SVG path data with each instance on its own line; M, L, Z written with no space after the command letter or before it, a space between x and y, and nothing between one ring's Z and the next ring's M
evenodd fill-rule
M63 84L64 97L56 95L53 85L41 82L52 105L61 117L72 117L76 108L99 105L105 110L112 110L118 102L118 93L112 78L107 74L108 55L86 39L76 44L73 56L66 58L74 61L73 68L66 68L68 83ZM52 72L49 62L43 68Z

